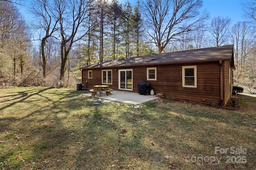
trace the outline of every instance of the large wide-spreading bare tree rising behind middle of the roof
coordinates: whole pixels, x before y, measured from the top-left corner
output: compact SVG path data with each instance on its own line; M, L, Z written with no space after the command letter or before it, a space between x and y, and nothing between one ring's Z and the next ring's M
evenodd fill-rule
M196 23L208 18L206 11L200 14L202 0L146 0L144 16L150 42L158 47L158 53L179 35L196 29Z

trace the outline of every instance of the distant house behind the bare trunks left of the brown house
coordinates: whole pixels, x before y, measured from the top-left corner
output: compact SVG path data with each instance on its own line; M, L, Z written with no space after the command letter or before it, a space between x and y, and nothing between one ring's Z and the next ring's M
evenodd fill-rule
M74 66L70 66L70 72L74 72ZM78 80L76 77L70 75L68 68L64 73L64 85L76 87ZM60 81L60 64L56 65L54 68L50 69L46 73L46 86L58 87L58 82Z

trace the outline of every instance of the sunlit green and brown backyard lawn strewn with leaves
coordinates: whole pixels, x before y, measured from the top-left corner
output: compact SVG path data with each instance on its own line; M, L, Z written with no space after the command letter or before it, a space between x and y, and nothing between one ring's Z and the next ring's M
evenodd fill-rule
M134 107L84 93L0 89L0 170L256 167L256 95L239 95L243 108L233 110L167 99Z

